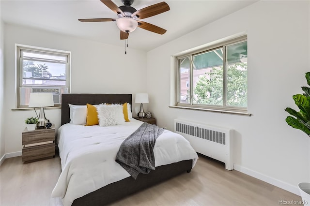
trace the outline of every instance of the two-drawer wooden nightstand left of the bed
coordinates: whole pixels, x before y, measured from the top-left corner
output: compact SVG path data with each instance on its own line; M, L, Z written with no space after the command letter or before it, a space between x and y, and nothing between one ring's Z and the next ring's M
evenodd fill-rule
M22 132L23 162L55 157L55 125L50 129Z

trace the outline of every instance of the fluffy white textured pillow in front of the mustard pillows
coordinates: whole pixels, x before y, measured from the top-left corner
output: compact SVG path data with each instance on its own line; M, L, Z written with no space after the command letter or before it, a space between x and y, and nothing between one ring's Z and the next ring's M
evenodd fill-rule
M123 105L111 104L97 107L99 126L113 126L122 124L124 120Z

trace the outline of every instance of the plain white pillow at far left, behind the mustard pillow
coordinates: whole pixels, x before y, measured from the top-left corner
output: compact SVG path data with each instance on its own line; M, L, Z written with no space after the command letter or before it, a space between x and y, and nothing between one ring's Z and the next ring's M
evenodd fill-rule
M75 105L69 104L70 108L70 123L75 125L86 124L86 117L87 117L87 106L86 105ZM95 107L98 107L101 104L95 104Z

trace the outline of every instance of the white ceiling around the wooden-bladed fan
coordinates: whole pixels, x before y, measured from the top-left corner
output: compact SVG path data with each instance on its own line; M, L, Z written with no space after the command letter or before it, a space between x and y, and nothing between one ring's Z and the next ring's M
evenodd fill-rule
M135 0L137 10L163 0ZM190 31L240 10L257 0L165 0L170 11L142 21L167 32L163 35L137 28L129 34L131 48L149 51ZM113 0L117 6L121 0ZM124 46L115 22L79 22L80 18L117 18L100 0L0 0L4 22L74 35L106 44Z

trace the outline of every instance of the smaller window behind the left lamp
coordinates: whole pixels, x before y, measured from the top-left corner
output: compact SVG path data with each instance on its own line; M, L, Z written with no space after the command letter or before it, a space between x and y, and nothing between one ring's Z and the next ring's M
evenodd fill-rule
M17 108L28 107L31 92L53 93L60 106L70 91L70 52L18 45L17 70Z

